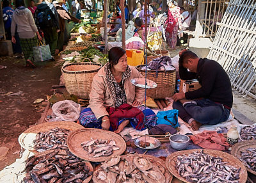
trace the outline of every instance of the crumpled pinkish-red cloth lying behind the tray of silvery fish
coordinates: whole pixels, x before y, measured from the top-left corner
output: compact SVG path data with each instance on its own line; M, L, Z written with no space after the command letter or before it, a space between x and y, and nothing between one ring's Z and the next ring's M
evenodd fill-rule
M190 137L195 145L212 150L228 150L228 143L223 134L216 131L204 131Z

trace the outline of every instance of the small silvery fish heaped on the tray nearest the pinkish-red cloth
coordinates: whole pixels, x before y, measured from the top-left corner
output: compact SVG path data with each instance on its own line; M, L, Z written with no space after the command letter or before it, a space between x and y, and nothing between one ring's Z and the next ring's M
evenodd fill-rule
M203 150L189 155L179 155L176 169L188 182L239 182L239 171L220 157L204 154Z

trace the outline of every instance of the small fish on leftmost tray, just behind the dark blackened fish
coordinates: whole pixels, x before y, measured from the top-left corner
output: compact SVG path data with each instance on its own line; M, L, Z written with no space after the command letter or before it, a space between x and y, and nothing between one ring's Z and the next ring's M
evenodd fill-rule
M60 129L58 127L46 132L36 134L36 139L33 141L33 148L38 152L43 152L50 149L68 149L67 137L70 130Z

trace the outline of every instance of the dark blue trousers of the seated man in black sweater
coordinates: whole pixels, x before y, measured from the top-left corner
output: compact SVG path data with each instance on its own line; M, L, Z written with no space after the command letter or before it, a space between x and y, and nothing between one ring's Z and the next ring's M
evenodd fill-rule
M179 116L184 122L196 122L216 125L228 120L230 110L222 104L212 102L209 99L194 100L194 103L182 104L180 102L173 102L173 109L179 110Z

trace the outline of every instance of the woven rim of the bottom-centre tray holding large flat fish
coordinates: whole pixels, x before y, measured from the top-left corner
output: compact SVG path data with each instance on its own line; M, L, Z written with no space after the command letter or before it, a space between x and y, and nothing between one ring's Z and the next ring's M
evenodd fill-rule
M166 178L166 180L169 179L169 181L166 182L166 183L171 183L171 182L172 182L173 175L167 170L166 165L165 165L165 163L164 163L164 161L163 161L162 159L157 158L157 157L154 157L154 156L152 156L152 155L143 155L143 154L127 154L127 155L121 155L121 157L129 157L129 156L146 157L147 159L150 159L150 162L155 161L155 162L161 164L161 165L164 167L164 169L166 170L166 171L164 172L164 177ZM96 176L97 176L98 171L102 170L102 168L100 168L100 166L101 166L101 164L99 164L99 166L97 166L97 167L95 168L95 170L93 171L93 178L92 178L92 180L93 180L93 182L95 182L95 183L97 182ZM164 183L164 182L162 182L162 183Z

